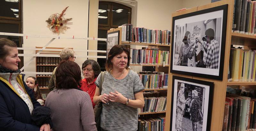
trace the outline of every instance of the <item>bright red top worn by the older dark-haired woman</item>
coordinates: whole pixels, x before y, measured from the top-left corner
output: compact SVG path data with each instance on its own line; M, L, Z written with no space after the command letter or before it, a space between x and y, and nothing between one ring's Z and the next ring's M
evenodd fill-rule
M87 92L90 95L93 108L95 106L95 104L93 103L93 96L95 94L95 89L96 89L96 85L94 84L96 79L97 79L97 77L94 79L93 83L91 83L91 84L88 84L88 82L85 78L81 81L81 90Z

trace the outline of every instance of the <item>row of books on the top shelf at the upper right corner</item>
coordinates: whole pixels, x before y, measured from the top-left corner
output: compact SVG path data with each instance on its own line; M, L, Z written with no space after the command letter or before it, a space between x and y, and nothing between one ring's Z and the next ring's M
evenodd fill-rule
M256 34L256 1L235 0L233 27L235 33Z

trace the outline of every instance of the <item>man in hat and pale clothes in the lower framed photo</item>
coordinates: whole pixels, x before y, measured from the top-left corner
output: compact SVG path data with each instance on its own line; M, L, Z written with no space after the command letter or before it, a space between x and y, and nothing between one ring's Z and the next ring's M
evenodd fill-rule
M181 83L180 91L178 93L178 99L177 99L177 118L176 118L177 131L182 131L181 123L182 123L185 105L190 101L189 98L188 99L185 98L184 91L185 91L185 84Z

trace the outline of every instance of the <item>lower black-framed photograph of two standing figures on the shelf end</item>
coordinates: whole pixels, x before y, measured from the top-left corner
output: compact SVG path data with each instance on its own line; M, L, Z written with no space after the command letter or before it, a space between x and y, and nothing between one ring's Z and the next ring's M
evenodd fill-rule
M209 131L212 115L212 82L172 76L172 131Z

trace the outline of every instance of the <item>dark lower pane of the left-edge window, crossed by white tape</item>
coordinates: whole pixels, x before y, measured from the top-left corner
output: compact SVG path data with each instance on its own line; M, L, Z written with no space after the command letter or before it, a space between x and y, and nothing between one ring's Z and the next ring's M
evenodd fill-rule
M0 32L19 33L19 24L0 23ZM19 37L20 36L0 35L0 38L13 40L17 44L17 47L20 47Z

